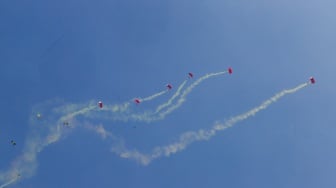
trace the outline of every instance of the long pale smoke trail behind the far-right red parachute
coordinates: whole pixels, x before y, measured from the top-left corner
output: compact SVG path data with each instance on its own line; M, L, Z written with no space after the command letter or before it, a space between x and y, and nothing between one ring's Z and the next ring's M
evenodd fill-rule
M111 151L118 154L122 158L133 159L142 165L148 165L151 161L159 157L169 157L172 154L180 152L188 147L188 145L196 142L209 140L215 136L218 131L223 131L229 127L234 126L236 123L243 121L251 116L256 115L261 110L266 109L269 105L279 100L281 97L295 93L300 89L306 87L308 83L301 84L293 89L283 90L280 93L274 95L270 99L264 101L261 105L243 113L238 116L232 117L224 123L215 123L215 125L209 130L200 129L198 131L188 131L180 135L179 140L166 146L155 147L150 154L144 154L137 150L128 150L124 145L112 147Z

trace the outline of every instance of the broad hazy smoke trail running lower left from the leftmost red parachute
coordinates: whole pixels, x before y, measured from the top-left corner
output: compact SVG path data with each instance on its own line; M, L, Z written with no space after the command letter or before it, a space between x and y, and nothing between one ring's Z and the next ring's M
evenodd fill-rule
M52 112L68 112L69 109L74 109L72 105L66 105L61 108L54 109ZM0 172L0 181L1 182L10 182L12 184L16 182L17 172L20 172L21 177L29 178L35 174L37 168L37 155L40 153L45 147L49 146L52 143L55 143L62 138L62 135L66 133L66 128L62 127L62 121L72 121L73 126L76 124L74 120L75 116L85 114L92 109L96 108L96 106L89 105L88 107L79 109L72 113L61 116L58 121L52 121L53 123L48 123L50 120L41 120L43 125L34 126L33 120L35 116L31 117L31 124L33 129L28 134L27 139L24 144L23 152L20 156L18 156L11 163L11 166L7 171ZM47 116L44 116L47 118ZM47 122L48 121L48 122ZM7 186L8 183L2 185Z

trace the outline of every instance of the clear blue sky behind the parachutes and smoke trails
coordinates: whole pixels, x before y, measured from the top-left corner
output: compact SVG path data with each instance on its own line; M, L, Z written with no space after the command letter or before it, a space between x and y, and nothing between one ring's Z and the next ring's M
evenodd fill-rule
M123 104L173 84L165 95L130 105L142 113L166 102L188 72L195 78L187 86L232 66L234 74L205 80L164 120L79 116L75 128L38 153L34 173L22 173L10 187L335 187L335 6L329 0L2 0L0 176L20 163L32 132L44 137L58 126L55 108ZM150 153L312 75L313 87L145 166L111 152L114 139L82 128L102 125L128 149Z

